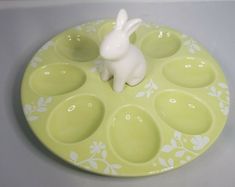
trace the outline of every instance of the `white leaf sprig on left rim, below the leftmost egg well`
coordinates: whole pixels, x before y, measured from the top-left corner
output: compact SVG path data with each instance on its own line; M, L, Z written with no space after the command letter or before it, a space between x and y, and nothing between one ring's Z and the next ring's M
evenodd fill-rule
M38 113L46 112L51 101L52 97L39 97L36 103L25 104L23 109L27 120L30 122L38 120Z

